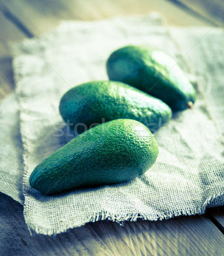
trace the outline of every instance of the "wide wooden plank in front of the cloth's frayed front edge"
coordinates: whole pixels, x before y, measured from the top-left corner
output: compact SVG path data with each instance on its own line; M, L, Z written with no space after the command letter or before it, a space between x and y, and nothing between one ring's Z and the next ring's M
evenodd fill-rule
M23 207L0 194L0 255L221 255L224 236L205 216L86 224L57 236L30 236Z

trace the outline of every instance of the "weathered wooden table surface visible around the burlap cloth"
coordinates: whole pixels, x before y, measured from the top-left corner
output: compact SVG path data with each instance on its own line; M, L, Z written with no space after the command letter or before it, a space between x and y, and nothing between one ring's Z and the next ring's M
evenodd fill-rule
M8 43L61 20L160 12L173 26L224 26L222 0L0 0L0 100L14 88ZM224 255L224 207L166 221L98 221L49 237L30 236L23 206L0 193L0 255Z

